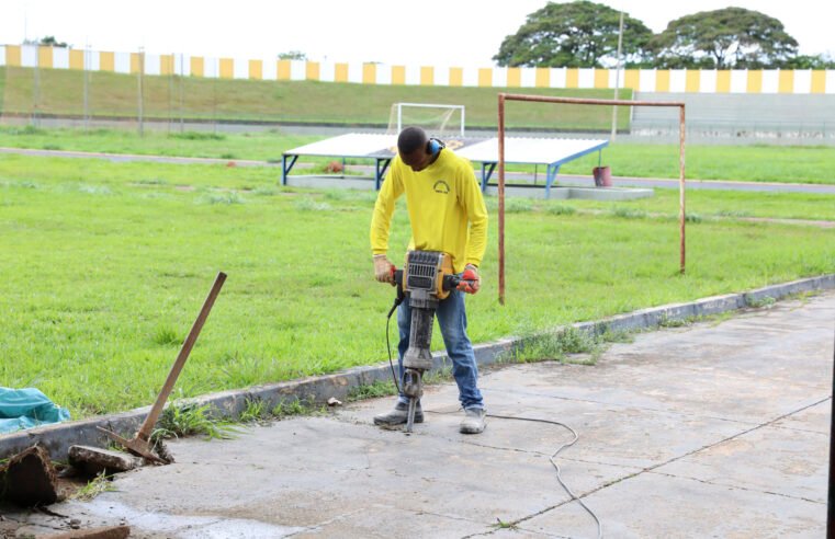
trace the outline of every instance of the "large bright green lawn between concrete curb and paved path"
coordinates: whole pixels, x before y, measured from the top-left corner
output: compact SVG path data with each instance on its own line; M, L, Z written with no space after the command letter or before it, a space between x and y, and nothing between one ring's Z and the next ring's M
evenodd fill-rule
M153 402L221 270L229 278L178 397L383 360L393 290L371 275L375 194L275 182L268 168L0 157L3 385L37 387L76 417ZM675 192L616 206L509 202L501 307L489 198L471 336L485 342L833 273L835 229L744 220L835 220L832 199L689 193L685 276ZM403 207L394 227L392 256L402 260Z

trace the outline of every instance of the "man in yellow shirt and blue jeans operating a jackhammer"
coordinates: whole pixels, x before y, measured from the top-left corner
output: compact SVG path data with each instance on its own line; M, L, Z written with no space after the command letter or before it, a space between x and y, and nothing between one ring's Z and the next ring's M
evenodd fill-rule
M397 156L380 190L371 219L374 274L381 283L393 283L393 265L386 257L388 230L395 200L404 193L411 223L408 249L447 253L452 257L453 271L464 279L458 290L441 300L436 314L464 409L460 429L464 434L478 434L484 431L485 410L477 386L478 368L466 335L464 293L475 294L481 286L478 266L487 244L484 197L470 161L444 148L440 140L429 139L419 127L403 129L397 138ZM397 312L400 379L403 355L409 345L411 309L408 303L400 303ZM400 393L395 408L375 416L374 423L400 425L406 423L407 416L408 399ZM424 412L418 402L415 423L422 421Z

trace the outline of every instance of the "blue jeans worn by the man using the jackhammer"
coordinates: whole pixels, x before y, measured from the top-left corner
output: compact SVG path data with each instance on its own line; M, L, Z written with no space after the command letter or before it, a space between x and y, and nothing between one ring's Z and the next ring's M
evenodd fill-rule
M484 409L482 392L476 386L478 367L475 364L475 354L470 337L466 336L466 310L464 309L464 293L450 291L447 299L438 305L435 311L438 325L441 328L443 344L447 346L447 355L452 360L452 376L455 378L459 389L459 400L464 410ZM409 347L409 332L411 324L411 308L409 300L400 303L397 310L397 325L400 330L400 342L397 345L399 352L398 365L400 374L400 387L403 387L403 356ZM400 402L408 402L408 398L400 393Z

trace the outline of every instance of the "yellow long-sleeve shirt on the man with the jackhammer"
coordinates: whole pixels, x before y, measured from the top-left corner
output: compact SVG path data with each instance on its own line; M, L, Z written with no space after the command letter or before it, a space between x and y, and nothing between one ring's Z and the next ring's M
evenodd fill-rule
M432 164L415 172L395 157L371 218L374 254L388 251L394 204L404 193L411 223L409 250L448 253L456 273L466 264L481 265L487 246L487 208L470 161L444 149Z

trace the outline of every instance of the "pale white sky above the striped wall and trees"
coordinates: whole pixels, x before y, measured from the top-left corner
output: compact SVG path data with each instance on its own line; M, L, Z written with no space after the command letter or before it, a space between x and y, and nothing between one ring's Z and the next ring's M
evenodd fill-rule
M653 32L740 7L780 20L801 54L835 56L822 0L597 0ZM3 0L0 44L55 36L74 47L268 59L490 67L503 39L546 0Z

